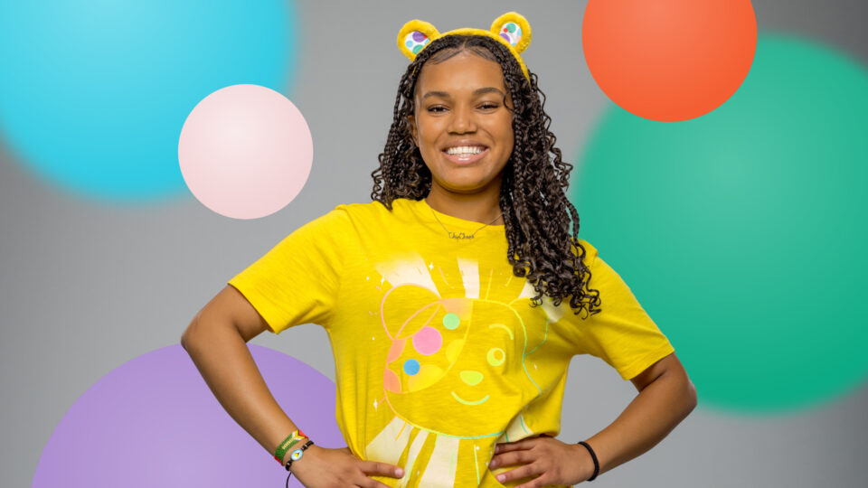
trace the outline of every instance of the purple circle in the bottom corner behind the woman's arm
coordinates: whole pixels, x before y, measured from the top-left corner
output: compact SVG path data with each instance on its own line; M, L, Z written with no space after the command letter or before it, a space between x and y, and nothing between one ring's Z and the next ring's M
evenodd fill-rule
M249 348L278 404L291 406L289 418L317 446L346 446L335 383L282 352ZM31 486L237 488L283 486L286 478L274 455L223 410L184 348L171 345L127 361L76 400L42 450Z

